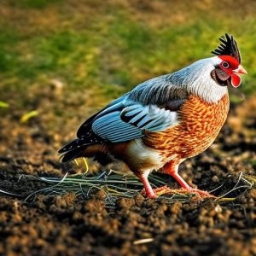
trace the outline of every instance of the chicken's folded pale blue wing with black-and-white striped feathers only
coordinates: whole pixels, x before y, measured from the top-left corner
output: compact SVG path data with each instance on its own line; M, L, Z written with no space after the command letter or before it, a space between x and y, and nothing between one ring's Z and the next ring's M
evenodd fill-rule
M134 105L137 109L125 108L125 102L123 106L122 111L115 110L109 113L106 109L105 114L96 117L92 123L92 130L97 136L111 143L122 143L143 137L145 130L163 131L177 124L175 112L139 104Z

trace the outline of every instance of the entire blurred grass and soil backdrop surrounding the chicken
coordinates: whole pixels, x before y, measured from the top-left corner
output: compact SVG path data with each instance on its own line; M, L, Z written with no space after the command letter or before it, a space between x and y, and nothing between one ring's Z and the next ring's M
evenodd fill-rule
M0 255L256 255L256 193L241 193L255 184L255 14L253 0L0 0ZM38 178L84 172L83 160L61 164L57 154L84 119L211 56L225 32L248 75L230 90L217 140L179 173L236 201L168 205L138 194L110 206L81 183L61 194ZM110 167L89 162L90 172Z

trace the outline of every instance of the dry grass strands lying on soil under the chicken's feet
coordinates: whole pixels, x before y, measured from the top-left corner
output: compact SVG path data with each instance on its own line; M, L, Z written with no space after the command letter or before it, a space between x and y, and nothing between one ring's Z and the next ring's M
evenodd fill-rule
M86 163L86 161L85 161ZM87 165L87 164L86 164ZM88 166L86 166L88 168ZM40 177L49 186L33 192L28 195L26 200L32 199L35 195L64 195L66 193L74 193L82 195L84 198L89 198L95 195L97 191L102 191L106 198L107 205L114 205L119 198L133 198L140 194L143 189L143 183L137 177L125 176L122 172L110 170L109 172L102 172L101 174L89 177L87 176L88 169L84 174L76 174L73 176L64 177ZM153 188L159 188L166 185L166 182L158 175L151 174L148 177L149 182ZM223 184L222 184L223 185ZM221 185L221 186L222 186ZM216 189L219 189L219 186ZM229 197L229 195L241 189L252 189L256 186L256 177L244 175L242 172L237 179L233 188L218 197L212 196L215 201L234 201L236 198ZM214 189L215 190L215 189ZM214 190L210 191L212 193ZM164 199L167 203L175 201L201 201L208 197L199 196L196 194L188 194L183 189L166 189L166 193L160 195L156 200Z

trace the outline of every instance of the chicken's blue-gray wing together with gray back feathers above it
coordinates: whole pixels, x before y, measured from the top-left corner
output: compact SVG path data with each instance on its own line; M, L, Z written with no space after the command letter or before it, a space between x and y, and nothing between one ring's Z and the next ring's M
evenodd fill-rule
M144 136L144 131L164 131L177 125L177 109L187 92L175 82L175 73L150 79L110 103L96 115L92 131L111 143Z

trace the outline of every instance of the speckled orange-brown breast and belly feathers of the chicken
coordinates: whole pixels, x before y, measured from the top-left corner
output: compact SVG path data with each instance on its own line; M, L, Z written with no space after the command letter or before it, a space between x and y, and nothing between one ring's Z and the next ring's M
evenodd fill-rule
M201 154L218 136L229 108L228 94L224 95L217 104L189 96L178 112L181 122L166 131L147 132L143 143L159 150L166 159L175 155L178 161Z

